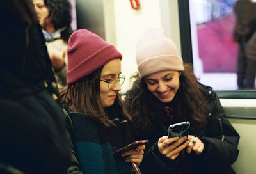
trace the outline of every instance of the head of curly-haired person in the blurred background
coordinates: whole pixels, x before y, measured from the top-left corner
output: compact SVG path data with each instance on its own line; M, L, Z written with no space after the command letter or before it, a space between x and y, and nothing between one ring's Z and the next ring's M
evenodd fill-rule
M71 24L71 6L68 0L33 0L40 26L52 33Z

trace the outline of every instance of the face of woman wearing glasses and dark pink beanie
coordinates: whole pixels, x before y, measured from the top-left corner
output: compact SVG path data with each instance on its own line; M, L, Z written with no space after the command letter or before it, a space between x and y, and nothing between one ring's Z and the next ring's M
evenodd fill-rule
M102 68L100 75L100 99L103 107L112 106L115 102L118 91L121 90L120 83L116 83L112 89L109 89L111 79L117 79L121 74L121 60L113 59L106 63Z

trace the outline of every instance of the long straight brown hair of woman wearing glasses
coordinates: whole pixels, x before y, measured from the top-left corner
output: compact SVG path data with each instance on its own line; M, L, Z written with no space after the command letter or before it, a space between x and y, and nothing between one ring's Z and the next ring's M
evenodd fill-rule
M67 84L60 89L60 97L63 108L68 108L70 112L84 113L90 120L96 120L107 127L115 123L109 120L100 100L100 75L103 67L95 70L91 74L78 81ZM119 93L116 96L115 104L121 107L122 113L131 121L131 116L125 111Z

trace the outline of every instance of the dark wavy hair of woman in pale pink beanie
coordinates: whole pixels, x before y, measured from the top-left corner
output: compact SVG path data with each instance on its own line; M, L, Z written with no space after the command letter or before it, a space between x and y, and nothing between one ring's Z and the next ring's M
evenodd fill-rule
M185 70L180 75L180 87L167 111L166 104L152 95L148 90L144 79L135 75L136 81L127 91L124 106L129 115L132 116L132 131L149 132L155 118L166 120L170 114L175 116L174 122L191 122L191 130L204 129L206 124L205 106L206 99L200 90L191 65L184 65Z

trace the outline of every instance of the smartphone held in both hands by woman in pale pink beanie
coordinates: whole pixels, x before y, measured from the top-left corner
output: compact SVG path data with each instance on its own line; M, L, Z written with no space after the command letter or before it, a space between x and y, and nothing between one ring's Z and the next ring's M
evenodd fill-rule
M181 122L170 125L168 128L168 138L188 136L190 122Z

